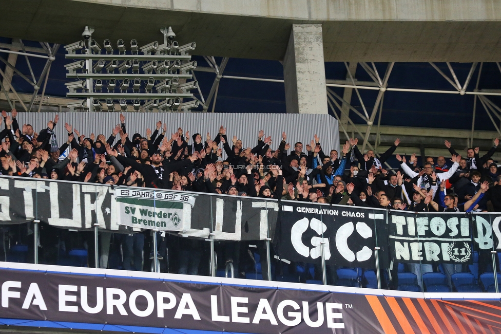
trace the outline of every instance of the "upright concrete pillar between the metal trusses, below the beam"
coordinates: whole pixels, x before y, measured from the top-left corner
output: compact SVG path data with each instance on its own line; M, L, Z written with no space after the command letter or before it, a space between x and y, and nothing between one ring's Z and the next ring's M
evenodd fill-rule
M283 78L287 113L327 114L321 25L292 25Z

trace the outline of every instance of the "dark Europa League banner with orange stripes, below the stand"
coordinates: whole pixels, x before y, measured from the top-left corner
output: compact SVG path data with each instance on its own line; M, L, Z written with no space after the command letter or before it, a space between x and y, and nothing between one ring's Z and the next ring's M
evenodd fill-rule
M486 333L499 323L499 299L485 300L485 295L480 303L423 299L419 293L414 293L414 298L392 296L390 290L376 295L377 290L364 294L369 292L366 289L347 293L319 286L309 290L296 286L193 283L173 274L131 278L109 270L82 275L54 272L38 265L23 266L22 270L0 268L0 324L15 319L41 321L38 326L48 321L48 327L60 326L54 322L66 322L68 328L114 325L129 332L191 329L355 334L435 333L440 329L456 333L467 332L465 328Z

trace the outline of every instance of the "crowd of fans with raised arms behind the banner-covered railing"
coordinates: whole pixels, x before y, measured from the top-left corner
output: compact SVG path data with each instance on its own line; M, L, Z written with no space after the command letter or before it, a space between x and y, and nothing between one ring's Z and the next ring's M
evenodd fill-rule
M397 210L501 211L501 171L491 159L497 138L484 156L475 147L466 158L445 141L452 154L450 166L443 156L436 163L428 157L421 167L415 154L408 160L397 154L399 170L392 173L383 164L396 150L398 138L379 157L372 150L360 152L358 139L346 141L342 155L336 150L326 155L317 135L305 147L295 143L288 153L291 144L285 132L276 150L263 131L254 147L245 148L237 136L228 140L223 126L214 139L207 133L203 141L202 135L189 136L182 128L167 135L166 124L159 121L155 131L146 129L146 137L136 133L129 139L120 115L108 139L86 137L65 123L66 141L58 147L53 138L58 116L39 134L29 124L19 127L15 109L11 116L5 111L2 116L3 175ZM67 152L65 158L62 152Z

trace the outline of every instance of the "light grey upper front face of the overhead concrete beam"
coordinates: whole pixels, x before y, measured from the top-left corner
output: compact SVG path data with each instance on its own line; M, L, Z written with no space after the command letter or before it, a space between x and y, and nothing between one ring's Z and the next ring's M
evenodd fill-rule
M498 0L72 0L292 20L498 21Z

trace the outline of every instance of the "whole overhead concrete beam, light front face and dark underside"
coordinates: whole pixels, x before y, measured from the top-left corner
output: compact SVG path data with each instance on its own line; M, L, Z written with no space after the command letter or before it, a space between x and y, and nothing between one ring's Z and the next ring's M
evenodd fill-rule
M194 54L282 60L293 24L321 24L325 61L495 62L498 0L0 0L0 33L69 44L93 38L140 45L172 26Z

